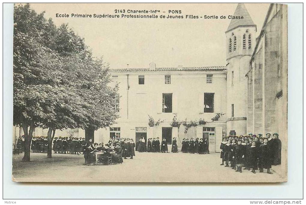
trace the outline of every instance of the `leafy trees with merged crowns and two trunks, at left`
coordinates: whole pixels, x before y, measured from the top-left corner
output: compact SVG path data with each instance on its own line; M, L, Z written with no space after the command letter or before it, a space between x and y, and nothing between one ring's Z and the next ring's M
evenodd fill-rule
M51 157L57 129L96 130L118 118L118 86L108 86L108 64L93 58L67 24L57 28L29 4L15 6L13 52L13 124L24 130L23 161L30 160L37 126L48 129Z

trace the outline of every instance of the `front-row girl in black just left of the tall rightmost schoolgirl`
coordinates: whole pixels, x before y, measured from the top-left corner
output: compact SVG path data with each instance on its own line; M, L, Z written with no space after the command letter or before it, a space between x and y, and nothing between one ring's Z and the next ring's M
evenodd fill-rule
M259 147L259 172L263 172L263 168L267 169L268 174L273 174L270 171L271 168L271 150L268 145L268 139L263 138L263 144Z

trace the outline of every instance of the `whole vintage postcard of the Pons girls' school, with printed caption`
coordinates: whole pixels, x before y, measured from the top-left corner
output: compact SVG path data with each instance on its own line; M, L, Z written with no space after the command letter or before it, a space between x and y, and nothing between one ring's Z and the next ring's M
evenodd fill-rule
M287 5L16 3L13 29L13 181L287 181Z

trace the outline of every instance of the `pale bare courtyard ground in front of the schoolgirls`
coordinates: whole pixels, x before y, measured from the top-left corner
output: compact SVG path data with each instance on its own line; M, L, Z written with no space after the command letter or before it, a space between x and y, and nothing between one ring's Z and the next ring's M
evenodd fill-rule
M13 155L13 181L20 182L282 182L273 174L253 174L220 166L220 153L136 152L134 159L122 164L85 166L84 155L31 153L31 162L21 162L23 153ZM276 171L275 171L276 170Z

